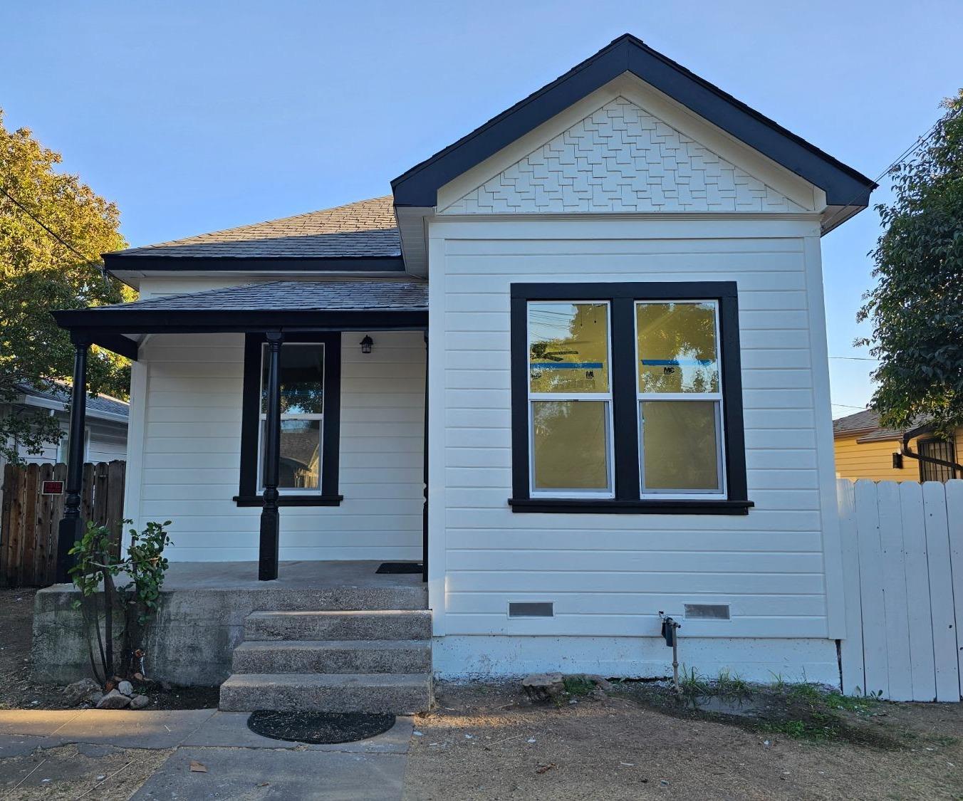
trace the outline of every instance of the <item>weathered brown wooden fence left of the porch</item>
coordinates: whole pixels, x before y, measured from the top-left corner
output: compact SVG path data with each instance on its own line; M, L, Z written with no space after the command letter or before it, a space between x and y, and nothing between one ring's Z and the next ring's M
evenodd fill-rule
M123 521L122 461L84 465L80 516L117 535ZM65 495L42 495L43 481L64 481L65 464L4 467L0 513L0 586L48 586L54 582L57 530Z

